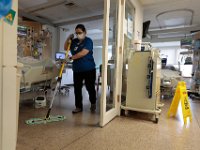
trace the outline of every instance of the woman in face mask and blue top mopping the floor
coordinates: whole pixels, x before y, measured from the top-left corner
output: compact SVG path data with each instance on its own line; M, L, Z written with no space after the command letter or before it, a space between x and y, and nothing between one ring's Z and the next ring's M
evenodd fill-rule
M89 99L91 103L90 110L95 112L96 110L96 68L93 58L93 42L86 36L86 28L82 24L78 24L75 28L75 34L77 38L72 40L70 47L73 60L73 77L74 77L74 94L75 94L75 106L76 108L72 113L79 113L83 110L82 103L82 87L83 81L85 81L86 89L89 93ZM65 49L69 47L70 35L65 42Z

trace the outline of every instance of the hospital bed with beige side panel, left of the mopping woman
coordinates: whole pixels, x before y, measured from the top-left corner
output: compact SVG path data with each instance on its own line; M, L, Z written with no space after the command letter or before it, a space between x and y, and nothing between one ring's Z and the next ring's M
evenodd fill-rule
M29 92L37 88L51 86L56 82L58 66L51 59L37 60L32 57L18 57L23 64L20 92Z

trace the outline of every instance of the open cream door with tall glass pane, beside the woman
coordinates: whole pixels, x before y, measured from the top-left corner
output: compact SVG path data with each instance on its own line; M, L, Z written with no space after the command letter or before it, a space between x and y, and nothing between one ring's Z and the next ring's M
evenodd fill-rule
M103 84L101 96L100 126L105 126L119 111L119 50L121 33L121 1L104 3Z

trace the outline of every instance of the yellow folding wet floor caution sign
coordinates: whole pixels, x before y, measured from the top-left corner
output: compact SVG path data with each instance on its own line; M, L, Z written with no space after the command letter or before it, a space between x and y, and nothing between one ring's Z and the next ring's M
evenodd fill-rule
M181 106L182 106L182 114L183 114L184 124L186 124L188 117L190 118L190 122L192 121L192 114L191 114L191 110L190 110L190 103L188 100L186 84L185 84L185 82L182 82L182 81L179 82L176 87L176 93L174 95L172 104L171 104L170 109L167 114L168 117L176 116L176 112L177 112L180 101L181 101Z

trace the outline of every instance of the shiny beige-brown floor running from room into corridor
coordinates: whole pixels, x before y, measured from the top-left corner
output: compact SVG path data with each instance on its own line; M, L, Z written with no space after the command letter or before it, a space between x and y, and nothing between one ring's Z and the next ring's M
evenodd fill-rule
M45 116L45 109L34 109L28 101L21 104L17 150L199 150L200 101L192 101L193 121L183 125L179 108L176 118L167 118L170 100L158 124L151 116L131 113L117 117L104 128L98 127L99 109L89 111L89 101L84 96L84 112L72 115L73 92L69 97L58 96L52 114L65 115L63 122L28 126L26 119Z

